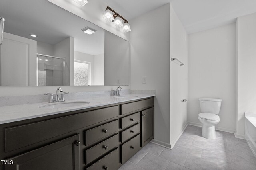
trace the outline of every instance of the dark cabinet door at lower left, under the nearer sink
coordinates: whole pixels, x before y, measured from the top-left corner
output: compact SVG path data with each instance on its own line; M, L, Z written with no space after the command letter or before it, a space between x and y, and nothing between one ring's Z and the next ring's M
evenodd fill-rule
M5 170L79 170L78 141L79 134L10 158Z

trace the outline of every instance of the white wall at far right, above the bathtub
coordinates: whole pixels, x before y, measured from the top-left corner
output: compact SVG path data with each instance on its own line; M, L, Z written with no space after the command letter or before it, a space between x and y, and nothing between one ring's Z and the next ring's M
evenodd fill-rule
M237 19L237 123L244 137L244 112L256 113L256 13Z

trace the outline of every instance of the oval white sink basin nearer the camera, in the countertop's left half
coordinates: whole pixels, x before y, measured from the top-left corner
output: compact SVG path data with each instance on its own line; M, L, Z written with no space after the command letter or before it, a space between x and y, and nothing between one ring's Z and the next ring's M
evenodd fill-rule
M39 108L48 108L48 109L59 109L64 107L73 107L73 106L81 106L88 104L90 102L58 102L58 103L51 103L39 106Z

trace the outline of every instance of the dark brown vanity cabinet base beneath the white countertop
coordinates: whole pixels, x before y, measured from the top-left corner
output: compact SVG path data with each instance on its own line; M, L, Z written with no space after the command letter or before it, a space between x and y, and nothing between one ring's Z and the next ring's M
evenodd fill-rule
M0 124L0 169L117 170L154 138L154 97Z

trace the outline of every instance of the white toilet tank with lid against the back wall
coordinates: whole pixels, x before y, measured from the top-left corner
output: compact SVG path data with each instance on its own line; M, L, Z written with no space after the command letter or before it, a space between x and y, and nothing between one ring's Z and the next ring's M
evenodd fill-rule
M221 99L199 98L202 113L213 113L218 115L220 113L221 102Z

